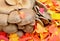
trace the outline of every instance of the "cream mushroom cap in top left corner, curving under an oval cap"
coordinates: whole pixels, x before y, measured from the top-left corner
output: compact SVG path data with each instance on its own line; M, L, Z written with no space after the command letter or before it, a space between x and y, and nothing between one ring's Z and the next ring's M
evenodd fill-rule
M9 6L5 3L5 0L0 0L0 13L9 14L15 10L16 6Z

